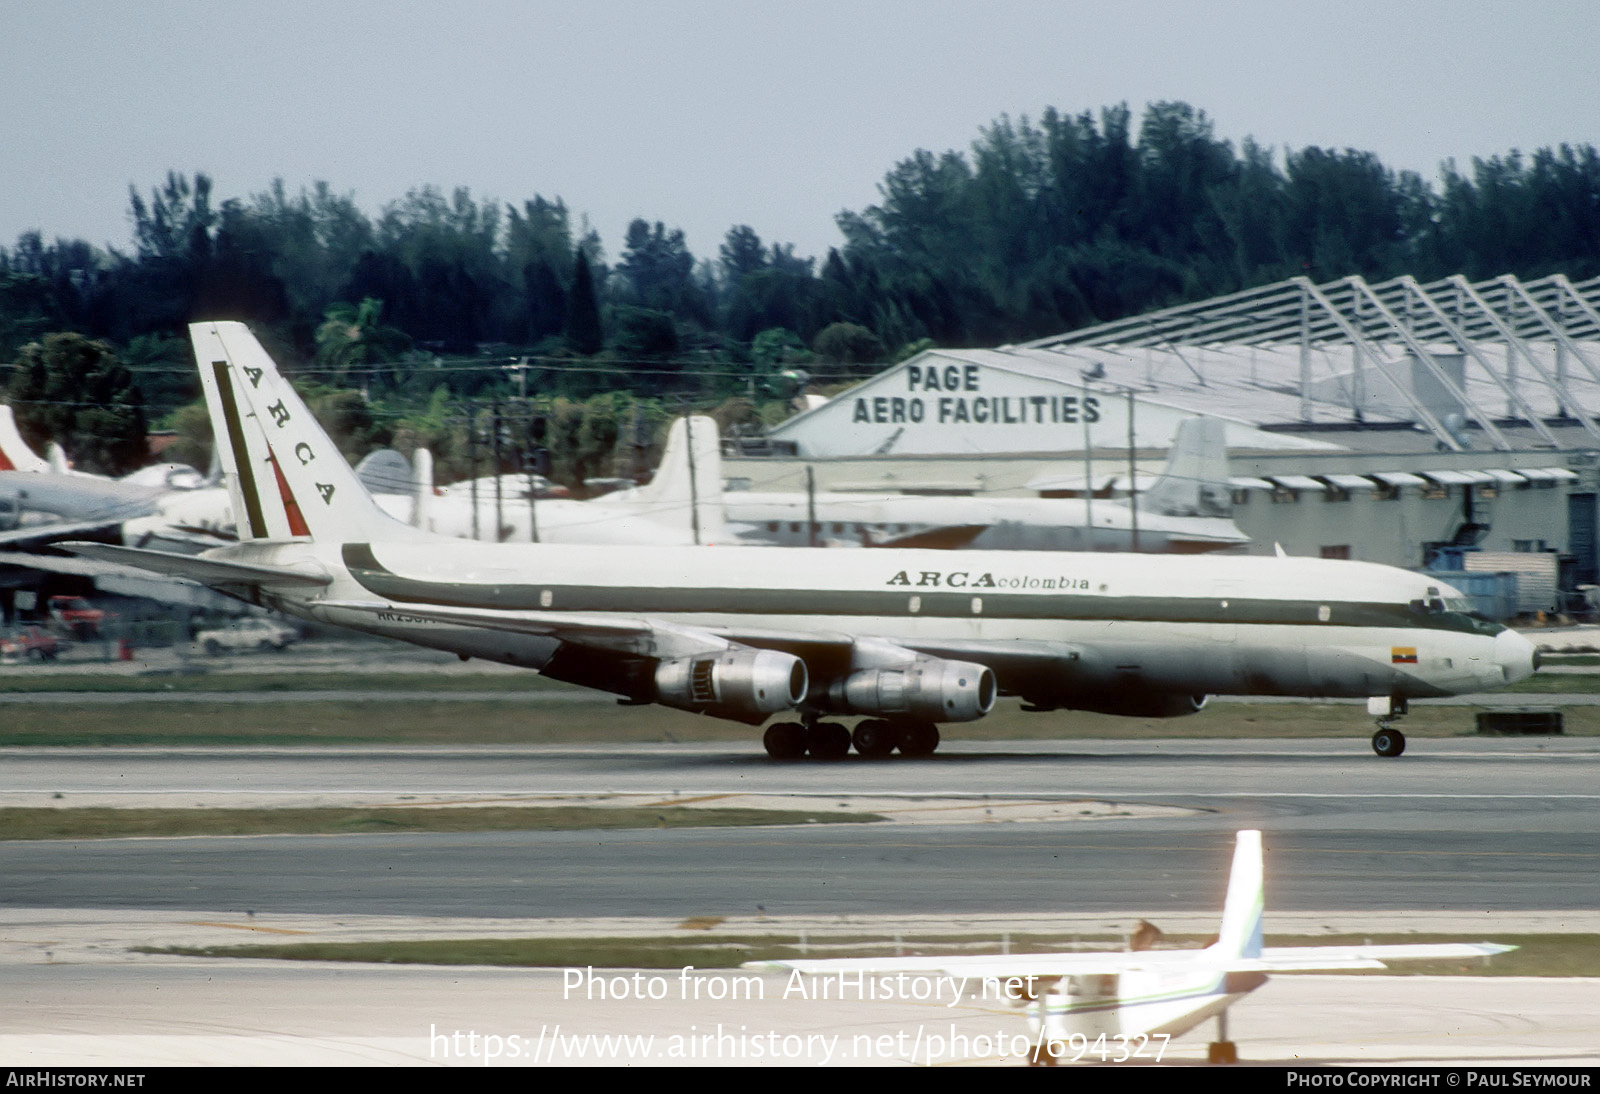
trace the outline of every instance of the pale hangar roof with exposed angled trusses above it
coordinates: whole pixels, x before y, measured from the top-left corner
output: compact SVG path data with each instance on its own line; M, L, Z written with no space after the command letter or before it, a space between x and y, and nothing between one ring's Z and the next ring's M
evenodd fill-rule
M1600 278L1291 278L997 352L1258 425L1418 422L1459 451L1467 424L1517 448L1507 421L1558 446L1549 417L1600 446Z

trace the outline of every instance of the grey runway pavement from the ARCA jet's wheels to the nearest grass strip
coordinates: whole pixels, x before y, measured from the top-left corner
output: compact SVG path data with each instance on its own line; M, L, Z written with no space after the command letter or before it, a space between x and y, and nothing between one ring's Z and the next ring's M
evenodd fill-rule
M928 763L739 749L8 750L3 805L331 805L634 792L990 795L1168 819L0 843L0 907L582 916L1216 907L1266 832L1272 907L1600 908L1600 742L952 745ZM61 795L59 798L54 795ZM981 800L981 798L976 798Z

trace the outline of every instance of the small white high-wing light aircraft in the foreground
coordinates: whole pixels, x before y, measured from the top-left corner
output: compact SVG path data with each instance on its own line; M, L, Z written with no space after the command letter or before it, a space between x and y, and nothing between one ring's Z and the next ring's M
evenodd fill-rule
M1267 972L1381 969L1386 961L1485 958L1517 947L1494 942L1411 945L1261 944L1264 904L1261 833L1240 832L1218 940L1203 950L1125 953L1013 953L906 958L752 961L747 969L802 976L952 977L979 998L1024 1006L1030 1064L1160 1059L1165 1038L1216 1019L1213 1064L1234 1064L1227 1008L1267 982Z

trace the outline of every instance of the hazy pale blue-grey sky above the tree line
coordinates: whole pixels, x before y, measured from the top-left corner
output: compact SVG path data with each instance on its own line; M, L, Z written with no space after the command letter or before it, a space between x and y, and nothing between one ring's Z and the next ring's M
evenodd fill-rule
M562 197L800 254L1002 114L1182 99L1219 138L1446 158L1600 144L1594 0L0 0L0 245L130 245L128 186Z

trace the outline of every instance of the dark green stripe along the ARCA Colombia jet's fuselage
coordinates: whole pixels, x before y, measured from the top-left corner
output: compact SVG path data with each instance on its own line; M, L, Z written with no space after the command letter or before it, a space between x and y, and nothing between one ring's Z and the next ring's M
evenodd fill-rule
M939 619L1061 619L1082 622L1234 624L1296 627L1390 627L1491 633L1458 613L1419 614L1405 605L1326 600L1075 597L1070 593L963 589L658 589L630 585L526 585L421 581L395 574L370 544L344 544L344 565L387 600L498 611L626 611L637 614L728 613L768 616L902 616ZM918 609L909 608L910 598ZM973 598L982 598L981 614ZM1320 619L1322 609L1328 619Z

